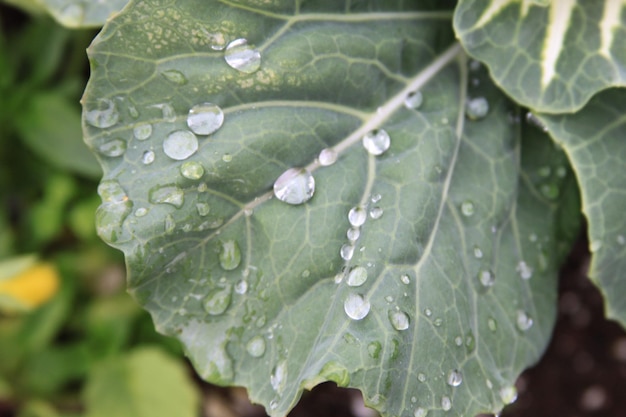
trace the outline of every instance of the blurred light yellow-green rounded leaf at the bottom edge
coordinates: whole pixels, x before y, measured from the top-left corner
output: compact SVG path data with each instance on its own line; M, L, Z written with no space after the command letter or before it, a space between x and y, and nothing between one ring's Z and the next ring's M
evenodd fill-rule
M95 366L84 399L86 417L194 417L199 405L184 363L158 348L135 349Z

